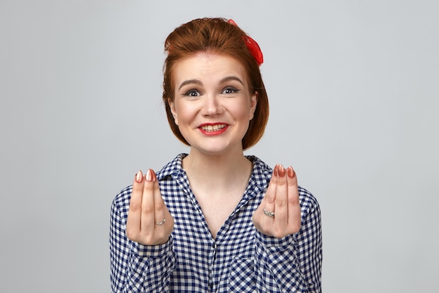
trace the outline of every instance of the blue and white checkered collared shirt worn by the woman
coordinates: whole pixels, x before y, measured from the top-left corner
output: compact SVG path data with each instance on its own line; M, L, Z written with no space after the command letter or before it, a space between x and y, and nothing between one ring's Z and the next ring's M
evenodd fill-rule
M157 173L175 219L170 240L145 246L126 237L132 186L112 203L109 235L112 292L321 292L322 234L318 202L299 187L302 228L283 238L263 235L252 214L271 168L254 156L247 189L213 239L178 155Z

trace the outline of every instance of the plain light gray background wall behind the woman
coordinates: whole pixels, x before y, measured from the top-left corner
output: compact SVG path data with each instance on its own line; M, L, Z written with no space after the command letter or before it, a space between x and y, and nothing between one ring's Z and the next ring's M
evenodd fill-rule
M109 292L109 209L187 148L163 41L234 18L271 117L247 153L320 202L324 292L438 292L438 1L0 1L1 292Z

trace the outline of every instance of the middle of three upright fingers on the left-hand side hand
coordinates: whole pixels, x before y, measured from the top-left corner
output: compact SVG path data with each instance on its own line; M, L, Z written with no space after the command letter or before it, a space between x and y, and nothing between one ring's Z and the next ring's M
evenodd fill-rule
M142 234L153 231L155 222L154 216L154 171L148 169L145 175L142 197L142 219L141 228Z

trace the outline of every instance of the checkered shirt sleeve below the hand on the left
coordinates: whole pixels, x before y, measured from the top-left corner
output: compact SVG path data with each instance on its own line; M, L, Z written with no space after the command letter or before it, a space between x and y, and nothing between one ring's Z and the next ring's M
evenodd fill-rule
M113 201L109 233L112 293L169 292L175 268L173 239L147 246L128 240L126 216Z

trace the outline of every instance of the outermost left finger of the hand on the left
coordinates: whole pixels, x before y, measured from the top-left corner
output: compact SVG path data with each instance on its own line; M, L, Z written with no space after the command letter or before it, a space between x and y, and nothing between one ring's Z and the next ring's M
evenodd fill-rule
M138 171L133 181L131 191L130 208L128 209L128 219L126 221L127 234L133 235L140 231L140 220L142 219L142 193L143 193L143 174ZM130 236L128 236L130 237Z

